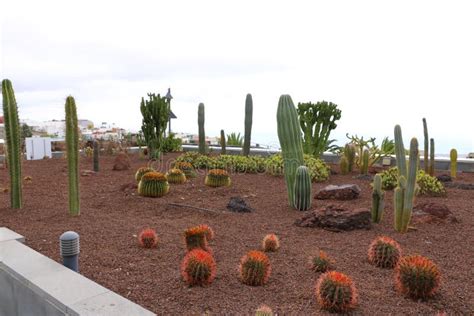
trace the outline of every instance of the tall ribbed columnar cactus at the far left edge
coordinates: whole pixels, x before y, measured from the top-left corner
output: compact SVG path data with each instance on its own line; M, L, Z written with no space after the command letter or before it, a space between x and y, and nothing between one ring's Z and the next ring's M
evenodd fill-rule
M7 145L7 163L10 171L10 205L21 208L21 145L18 108L10 80L2 81L3 115Z

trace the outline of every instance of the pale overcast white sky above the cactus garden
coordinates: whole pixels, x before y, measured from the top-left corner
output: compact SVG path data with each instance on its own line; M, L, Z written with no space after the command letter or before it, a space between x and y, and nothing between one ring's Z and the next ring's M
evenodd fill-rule
M346 133L474 152L474 2L466 1L4 1L0 77L12 80L20 118L78 116L137 131L148 92L171 88L176 132L244 131L278 146L282 94L331 101Z

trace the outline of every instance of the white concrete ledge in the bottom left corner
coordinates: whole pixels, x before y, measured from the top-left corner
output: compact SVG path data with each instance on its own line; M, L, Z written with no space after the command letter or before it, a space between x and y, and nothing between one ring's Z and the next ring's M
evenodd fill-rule
M0 315L155 315L23 245L15 234L0 228Z

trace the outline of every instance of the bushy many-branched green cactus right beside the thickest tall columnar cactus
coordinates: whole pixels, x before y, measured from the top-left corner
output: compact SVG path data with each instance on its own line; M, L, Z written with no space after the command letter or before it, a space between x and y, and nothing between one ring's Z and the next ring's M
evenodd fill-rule
M321 101L316 104L298 103L297 113L303 131L304 153L319 157L331 147L329 135L337 127L341 110L337 104Z

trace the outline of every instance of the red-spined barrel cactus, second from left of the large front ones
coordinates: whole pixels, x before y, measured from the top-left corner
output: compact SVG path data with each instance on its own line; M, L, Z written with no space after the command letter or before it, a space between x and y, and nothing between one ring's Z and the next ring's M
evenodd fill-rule
M246 285L264 285L270 273L270 260L261 251L251 250L240 260L240 279Z

